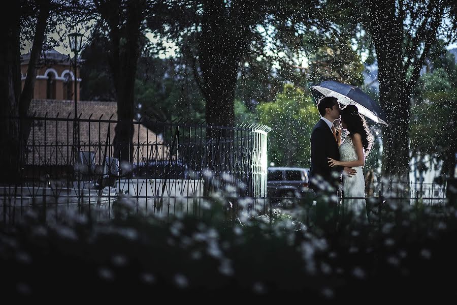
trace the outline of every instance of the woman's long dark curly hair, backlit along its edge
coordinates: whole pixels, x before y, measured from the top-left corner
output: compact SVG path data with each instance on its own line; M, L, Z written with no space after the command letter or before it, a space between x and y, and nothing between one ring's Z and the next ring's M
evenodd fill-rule
M368 128L367 121L365 118L358 113L357 106L347 105L341 109L341 119L347 125L348 136L352 139L352 136L356 133L360 134L362 138L362 145L365 149L365 156L368 156L371 148L373 148L373 137L370 129Z

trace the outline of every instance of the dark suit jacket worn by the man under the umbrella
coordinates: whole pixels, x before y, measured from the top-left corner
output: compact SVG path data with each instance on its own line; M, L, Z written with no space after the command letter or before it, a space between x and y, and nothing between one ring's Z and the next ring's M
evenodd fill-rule
M311 162L309 188L314 192L337 191L342 166L329 166L329 159L340 160L340 150L332 131L325 121L319 119L311 132Z

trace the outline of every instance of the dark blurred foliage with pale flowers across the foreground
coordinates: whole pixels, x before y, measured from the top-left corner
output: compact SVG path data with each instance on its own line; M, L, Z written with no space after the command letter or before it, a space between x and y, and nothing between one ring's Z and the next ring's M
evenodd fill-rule
M199 218L138 216L130 203L119 199L123 208L105 222L77 213L43 223L30 213L2 225L2 297L369 301L456 294L457 212L450 205L383 202L376 221L347 215L307 226L300 213L279 209L230 215L220 196Z

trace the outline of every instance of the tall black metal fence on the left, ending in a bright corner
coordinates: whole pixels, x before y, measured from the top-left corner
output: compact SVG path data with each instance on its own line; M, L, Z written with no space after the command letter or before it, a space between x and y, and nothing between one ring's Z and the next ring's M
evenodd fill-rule
M2 219L14 220L37 206L51 219L63 206L96 206L101 219L110 218L125 194L134 198L128 201L132 208L145 214L201 214L220 199L215 194L231 198L219 201L234 209L242 208L242 199L243 208L266 210L269 127L140 118L131 125L130 162L121 162L114 154L117 123L92 115L76 121L70 115L31 117L19 152L25 163L21 182L0 186Z

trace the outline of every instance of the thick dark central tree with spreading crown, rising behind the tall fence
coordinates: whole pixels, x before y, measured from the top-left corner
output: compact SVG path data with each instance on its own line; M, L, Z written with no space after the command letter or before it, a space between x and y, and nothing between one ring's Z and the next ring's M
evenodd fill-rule
M179 42L181 53L193 67L206 100L207 123L230 126L234 123L237 75L245 56L265 55L270 28L285 33L296 27L326 24L319 9L301 1L177 1L170 4L165 21L168 27L161 34ZM154 26L157 19L150 18L148 23ZM278 34L275 40L279 43L295 39L292 37Z

